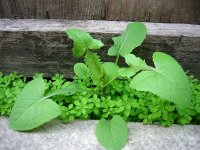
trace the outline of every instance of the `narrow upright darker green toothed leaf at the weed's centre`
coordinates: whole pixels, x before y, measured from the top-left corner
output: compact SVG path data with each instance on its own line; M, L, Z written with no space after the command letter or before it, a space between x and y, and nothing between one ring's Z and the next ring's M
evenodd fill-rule
M102 86L102 71L99 56L96 53L87 51L85 62L92 74L92 80L97 86Z

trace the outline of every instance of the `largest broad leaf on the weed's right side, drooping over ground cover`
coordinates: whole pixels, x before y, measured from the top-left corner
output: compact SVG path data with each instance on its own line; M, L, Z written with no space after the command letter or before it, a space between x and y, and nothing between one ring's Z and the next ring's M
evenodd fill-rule
M138 91L149 91L168 101L185 108L191 101L188 78L178 62L171 56L155 52L155 69L142 71L130 83Z

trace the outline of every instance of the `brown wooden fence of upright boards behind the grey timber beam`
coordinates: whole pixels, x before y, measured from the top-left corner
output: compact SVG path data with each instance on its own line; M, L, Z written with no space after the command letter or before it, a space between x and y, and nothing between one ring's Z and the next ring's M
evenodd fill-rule
M200 0L0 0L0 18L200 24Z

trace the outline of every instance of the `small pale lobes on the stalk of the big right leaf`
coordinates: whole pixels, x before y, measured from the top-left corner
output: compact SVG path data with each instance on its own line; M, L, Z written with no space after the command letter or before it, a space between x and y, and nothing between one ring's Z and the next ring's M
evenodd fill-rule
M131 77L135 75L138 71L145 69L147 67L144 60L142 60L139 57L136 57L133 54L125 55L126 63L130 66L129 68L120 68L119 69L119 75L120 76L126 76Z

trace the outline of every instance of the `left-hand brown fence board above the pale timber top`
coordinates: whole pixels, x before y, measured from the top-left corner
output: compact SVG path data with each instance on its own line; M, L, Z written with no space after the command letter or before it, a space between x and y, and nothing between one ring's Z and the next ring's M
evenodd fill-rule
M0 18L103 19L105 0L0 0Z

